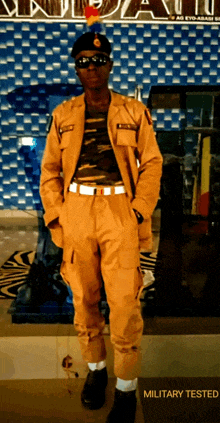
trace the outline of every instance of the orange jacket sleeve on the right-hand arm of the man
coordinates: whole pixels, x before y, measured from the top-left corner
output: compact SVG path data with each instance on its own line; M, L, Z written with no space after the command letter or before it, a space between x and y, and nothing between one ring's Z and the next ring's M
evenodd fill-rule
M163 159L154 134L150 113L145 107L142 107L139 120L137 134L139 176L131 205L142 214L144 219L149 219L159 198Z

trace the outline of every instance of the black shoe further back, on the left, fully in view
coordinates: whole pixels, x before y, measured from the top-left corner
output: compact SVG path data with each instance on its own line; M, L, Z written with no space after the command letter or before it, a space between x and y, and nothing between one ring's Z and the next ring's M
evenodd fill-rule
M84 407L98 410L105 402L105 388L108 383L106 367L102 370L89 370L82 393L81 401Z

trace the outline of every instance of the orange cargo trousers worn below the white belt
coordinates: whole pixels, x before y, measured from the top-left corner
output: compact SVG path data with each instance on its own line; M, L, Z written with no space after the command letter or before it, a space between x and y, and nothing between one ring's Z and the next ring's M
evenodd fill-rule
M82 195L68 192L59 223L63 229L61 275L73 292L74 325L86 362L106 358L99 311L104 280L110 308L114 373L130 380L140 372L143 319L140 293L138 223L126 194ZM102 278L101 278L102 275Z

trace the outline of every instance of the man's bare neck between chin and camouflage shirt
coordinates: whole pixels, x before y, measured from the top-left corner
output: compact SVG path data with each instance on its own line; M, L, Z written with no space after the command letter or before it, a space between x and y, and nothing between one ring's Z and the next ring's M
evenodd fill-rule
M85 102L87 109L96 109L97 111L108 110L110 103L110 91L105 90L89 90L85 93Z

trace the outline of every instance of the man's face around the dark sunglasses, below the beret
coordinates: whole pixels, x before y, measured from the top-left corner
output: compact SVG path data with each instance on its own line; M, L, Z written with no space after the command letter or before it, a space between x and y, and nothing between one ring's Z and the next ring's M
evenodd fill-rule
M93 57L99 54L104 54L103 52L97 52L97 50L84 50L81 51L75 58L75 60L80 57ZM89 66L85 69L78 68L76 66L77 75L84 87L84 90L99 90L108 86L109 74L112 70L113 62L108 60L103 66L96 66L94 63L89 63Z

